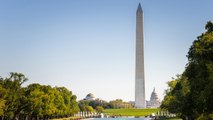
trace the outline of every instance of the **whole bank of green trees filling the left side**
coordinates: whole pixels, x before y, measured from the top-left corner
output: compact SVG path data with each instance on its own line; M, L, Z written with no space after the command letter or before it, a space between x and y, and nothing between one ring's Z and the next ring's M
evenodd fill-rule
M27 78L21 73L0 78L0 118L48 119L79 111L77 97L65 87L40 84L22 87L25 81Z

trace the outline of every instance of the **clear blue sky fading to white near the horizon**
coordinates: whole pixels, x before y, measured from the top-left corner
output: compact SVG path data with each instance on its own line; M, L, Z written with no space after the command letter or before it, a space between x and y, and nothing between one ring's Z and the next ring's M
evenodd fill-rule
M1 0L0 76L65 86L78 99L134 100L135 12L144 11L146 99L163 98L193 40L213 20L212 0Z

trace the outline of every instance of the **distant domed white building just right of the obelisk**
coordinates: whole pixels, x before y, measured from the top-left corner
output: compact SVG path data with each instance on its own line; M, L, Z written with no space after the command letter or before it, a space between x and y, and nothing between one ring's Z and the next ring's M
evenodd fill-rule
M160 100L158 99L158 95L155 92L155 88L153 89L153 92L151 94L150 100L146 101L146 107L147 108L159 108L161 105Z

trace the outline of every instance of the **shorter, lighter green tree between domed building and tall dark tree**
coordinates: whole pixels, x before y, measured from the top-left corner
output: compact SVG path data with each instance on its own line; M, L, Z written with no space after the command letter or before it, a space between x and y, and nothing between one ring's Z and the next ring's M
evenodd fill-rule
M161 108L180 116L188 114L188 111L185 111L189 107L186 98L190 92L187 78L177 75L176 79L169 81L167 84L169 89L166 90L166 96L162 101Z

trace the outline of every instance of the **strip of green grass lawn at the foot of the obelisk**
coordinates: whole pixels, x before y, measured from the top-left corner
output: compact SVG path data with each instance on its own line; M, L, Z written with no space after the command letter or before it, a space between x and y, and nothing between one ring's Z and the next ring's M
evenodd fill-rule
M159 109L106 109L103 113L111 116L148 116L156 113Z

